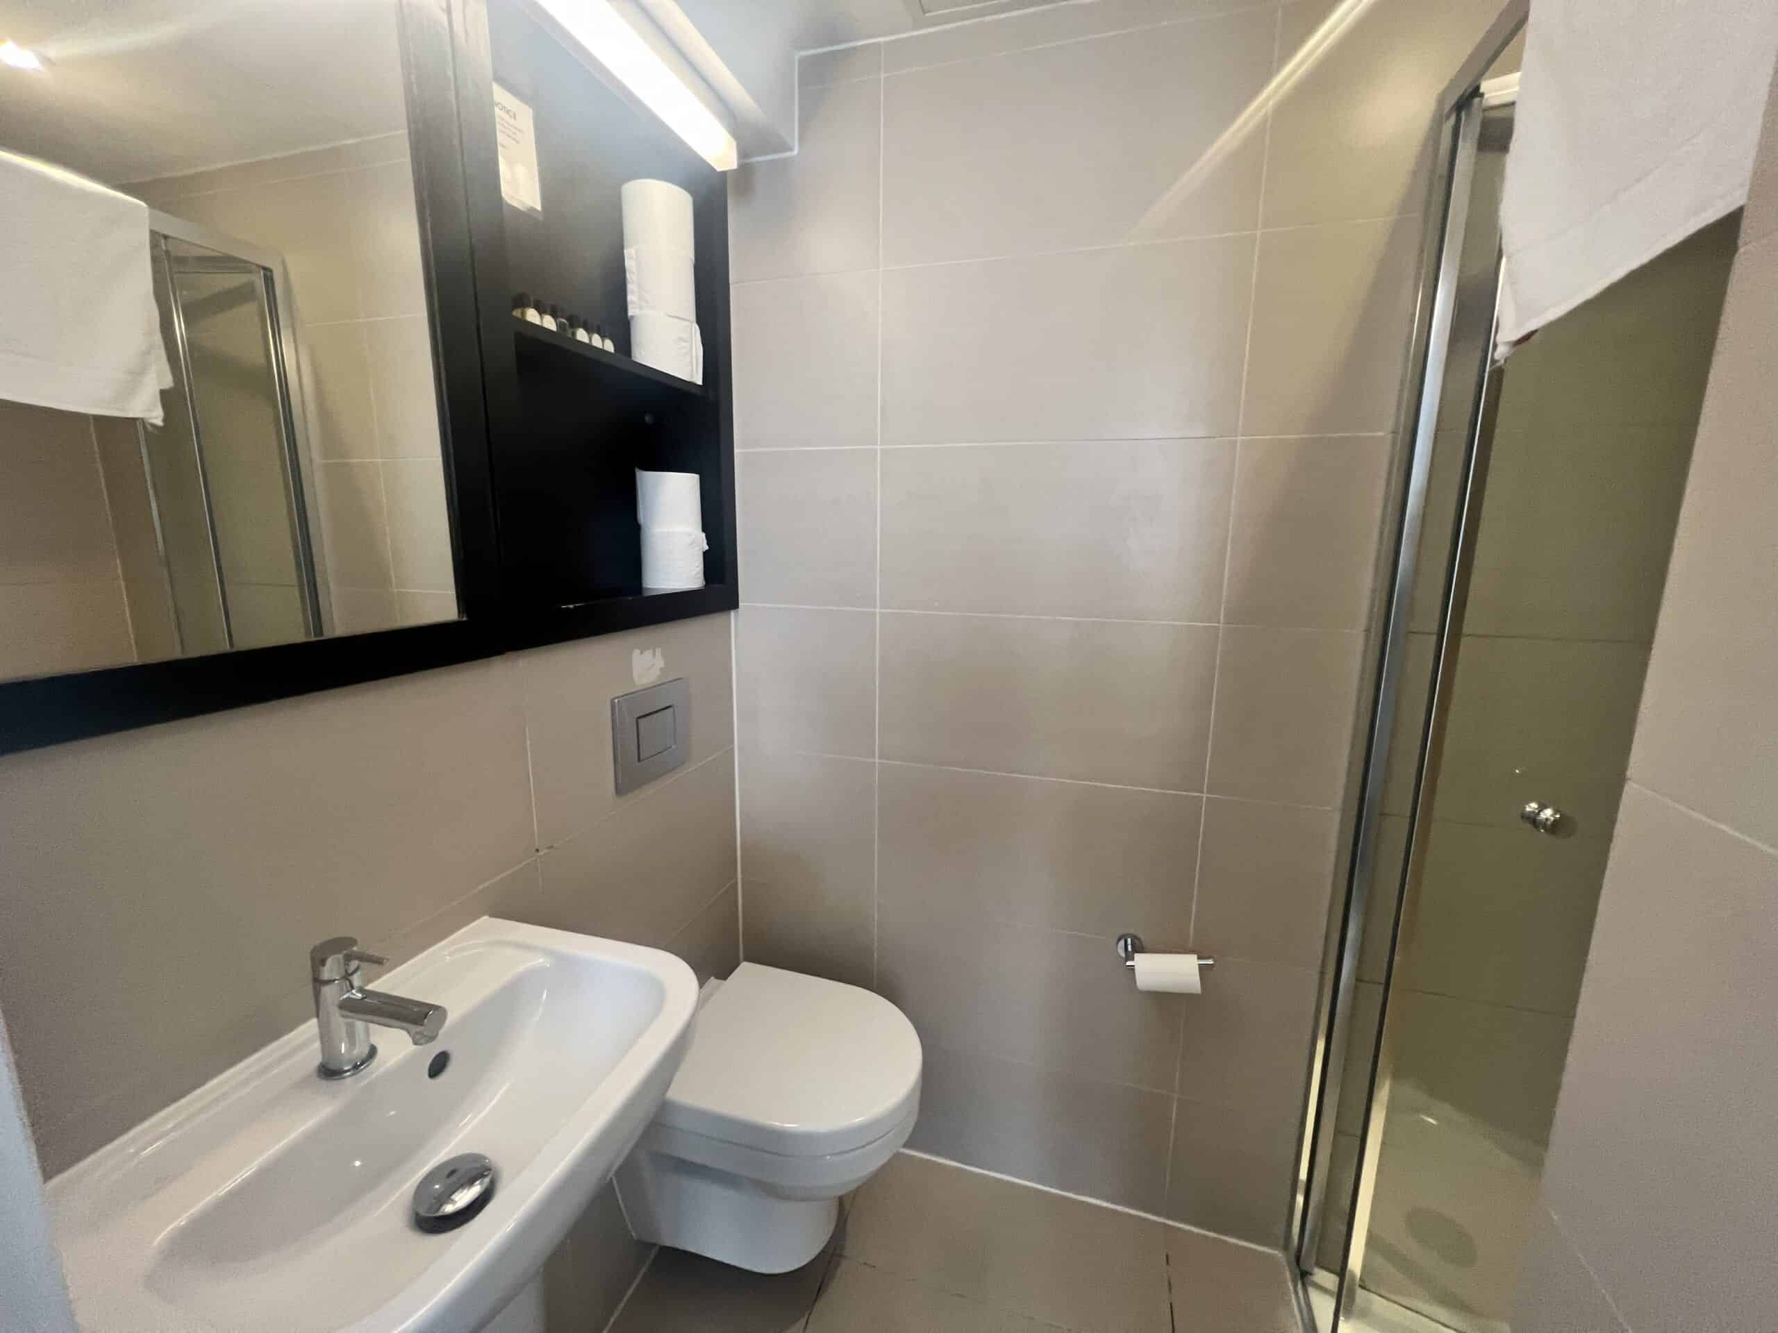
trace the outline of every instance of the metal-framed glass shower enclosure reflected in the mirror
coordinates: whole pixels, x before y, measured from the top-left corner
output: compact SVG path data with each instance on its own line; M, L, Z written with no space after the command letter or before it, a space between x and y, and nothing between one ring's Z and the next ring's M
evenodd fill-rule
M311 535L302 395L283 258L151 215L155 304L174 386L165 425L137 423L171 656L290 643L325 633Z

